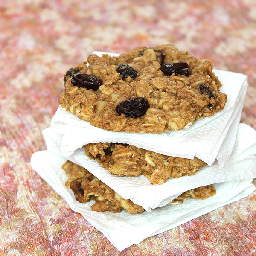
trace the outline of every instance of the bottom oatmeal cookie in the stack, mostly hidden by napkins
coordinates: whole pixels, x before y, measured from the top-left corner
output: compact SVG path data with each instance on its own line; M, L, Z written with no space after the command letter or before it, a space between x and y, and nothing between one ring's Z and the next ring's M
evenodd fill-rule
M67 160L62 169L68 177L65 186L72 189L75 198L80 203L87 203L91 200L96 201L91 209L97 212L121 212L127 210L131 214L144 212L143 207L134 204L131 200L126 200L118 195L113 189L97 179L85 168ZM189 198L206 199L216 194L212 185L202 186L184 192L179 197L172 200L169 204L181 204Z

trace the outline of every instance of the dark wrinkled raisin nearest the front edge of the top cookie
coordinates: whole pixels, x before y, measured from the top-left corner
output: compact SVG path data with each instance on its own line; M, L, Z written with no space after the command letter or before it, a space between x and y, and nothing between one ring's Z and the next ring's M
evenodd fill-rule
M120 102L116 106L116 112L119 115L124 113L125 117L137 118L140 116L144 116L148 108L149 103L147 99L142 97L135 97Z

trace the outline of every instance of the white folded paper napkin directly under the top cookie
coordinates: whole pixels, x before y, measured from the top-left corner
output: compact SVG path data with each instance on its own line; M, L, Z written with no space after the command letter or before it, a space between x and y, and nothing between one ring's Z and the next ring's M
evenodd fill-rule
M63 134L59 141L61 154L67 157L88 143L119 142L174 157L193 159L196 156L208 165L217 158L220 166L224 166L235 143L248 83L247 76L243 74L214 71L223 84L221 91L227 94L225 108L211 117L197 120L186 130L162 134L105 131L59 107L52 119L51 128Z

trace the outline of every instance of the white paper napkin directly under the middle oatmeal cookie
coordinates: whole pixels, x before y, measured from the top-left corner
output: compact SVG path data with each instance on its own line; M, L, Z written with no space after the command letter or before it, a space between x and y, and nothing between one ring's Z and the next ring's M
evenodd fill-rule
M84 149L77 149L72 155L64 157L58 148L58 140L63 135L56 134L47 128L43 131L47 150L83 166L99 180L116 191L122 198L131 199L146 211L168 204L181 193L199 186L231 180L253 179L256 177L256 131L249 125L239 124L236 144L233 152L223 168L217 162L212 166L203 166L192 176L178 179L170 178L162 185L151 185L144 176L117 177L102 168L95 160L84 154Z

